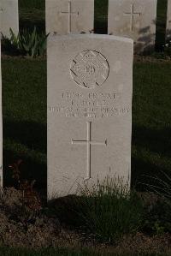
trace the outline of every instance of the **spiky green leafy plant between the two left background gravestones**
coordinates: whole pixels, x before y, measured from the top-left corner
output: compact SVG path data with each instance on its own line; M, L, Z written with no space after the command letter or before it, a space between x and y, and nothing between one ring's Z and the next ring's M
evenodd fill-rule
M36 27L30 33L23 30L21 33L15 35L10 28L10 37L3 36L3 51L13 51L17 55L26 55L30 57L43 57L46 50L46 40L49 34L38 33Z

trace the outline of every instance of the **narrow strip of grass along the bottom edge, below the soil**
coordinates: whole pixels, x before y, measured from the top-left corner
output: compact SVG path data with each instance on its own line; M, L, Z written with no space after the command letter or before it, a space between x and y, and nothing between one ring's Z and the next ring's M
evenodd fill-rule
M30 250L26 248L0 247L0 253L3 256L170 256L171 254L156 253L95 253L90 250L72 250L72 249L41 249Z

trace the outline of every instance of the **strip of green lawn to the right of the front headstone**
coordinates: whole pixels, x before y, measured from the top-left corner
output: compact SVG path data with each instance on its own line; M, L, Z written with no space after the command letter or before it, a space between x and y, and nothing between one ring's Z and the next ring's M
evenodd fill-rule
M136 63L133 71L133 184L171 172L171 63ZM137 186L141 188L140 184Z

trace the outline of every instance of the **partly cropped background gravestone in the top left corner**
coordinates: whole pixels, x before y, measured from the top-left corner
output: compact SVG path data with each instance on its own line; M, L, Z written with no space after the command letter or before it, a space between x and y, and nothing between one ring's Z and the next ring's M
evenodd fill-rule
M15 34L19 33L18 0L0 1L0 29L4 36L9 37L9 28Z

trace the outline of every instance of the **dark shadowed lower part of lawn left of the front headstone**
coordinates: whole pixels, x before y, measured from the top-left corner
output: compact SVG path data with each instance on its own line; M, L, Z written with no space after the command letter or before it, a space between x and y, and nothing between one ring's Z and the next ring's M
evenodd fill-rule
M9 164L14 164L21 159L21 179L35 180L35 187L46 193L46 137L46 126L43 124L3 121L3 182L5 186L14 186Z

